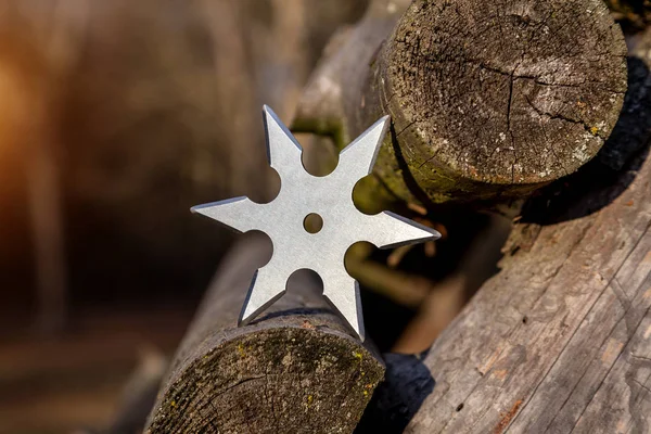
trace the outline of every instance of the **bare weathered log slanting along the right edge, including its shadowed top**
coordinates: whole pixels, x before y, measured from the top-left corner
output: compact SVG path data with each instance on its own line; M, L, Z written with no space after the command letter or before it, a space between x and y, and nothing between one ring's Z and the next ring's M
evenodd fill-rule
M406 432L651 430L647 38L599 157L527 203L501 271L424 358L436 385Z

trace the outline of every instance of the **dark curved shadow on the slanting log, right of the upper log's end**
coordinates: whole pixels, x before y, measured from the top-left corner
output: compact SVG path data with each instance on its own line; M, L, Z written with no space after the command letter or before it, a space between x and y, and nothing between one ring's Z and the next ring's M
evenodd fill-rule
M629 56L627 64L622 113L601 151L576 173L534 193L524 205L521 222L546 226L590 215L633 182L651 137L651 74L639 58Z

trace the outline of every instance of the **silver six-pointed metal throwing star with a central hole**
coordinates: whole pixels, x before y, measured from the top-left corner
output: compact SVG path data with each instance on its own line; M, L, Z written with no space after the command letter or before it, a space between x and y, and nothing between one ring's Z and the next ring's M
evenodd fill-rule
M384 116L340 153L336 168L324 177L308 174L302 164L303 149L278 116L264 106L269 165L280 176L276 199L258 204L241 196L192 207L238 232L259 230L271 239L273 255L253 276L239 324L246 324L286 290L286 281L299 269L316 271L323 295L363 341L365 330L359 284L348 276L344 255L358 241L380 248L435 240L441 234L393 213L367 215L353 203L353 189L369 175L388 125ZM306 216L318 214L323 227L309 233Z

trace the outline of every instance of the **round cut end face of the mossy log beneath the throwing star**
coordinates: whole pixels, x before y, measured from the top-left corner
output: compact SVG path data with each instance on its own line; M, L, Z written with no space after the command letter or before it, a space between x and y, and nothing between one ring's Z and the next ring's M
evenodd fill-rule
M173 367L148 433L354 430L384 373L368 349L323 328L239 330Z

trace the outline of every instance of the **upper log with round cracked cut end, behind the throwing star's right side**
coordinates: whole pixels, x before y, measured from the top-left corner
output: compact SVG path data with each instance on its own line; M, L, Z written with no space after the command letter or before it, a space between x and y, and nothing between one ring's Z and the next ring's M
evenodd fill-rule
M626 46L601 0L417 0L397 11L378 0L340 36L294 122L344 144L390 114L374 175L395 196L524 196L574 173L610 136Z

